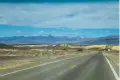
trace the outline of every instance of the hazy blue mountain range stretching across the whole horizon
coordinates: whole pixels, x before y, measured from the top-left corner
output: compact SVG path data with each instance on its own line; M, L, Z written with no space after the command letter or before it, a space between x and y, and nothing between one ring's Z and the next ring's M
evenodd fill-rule
M60 43L72 43L72 44L119 44L119 36L106 36L98 38L86 38L86 37L68 37L68 36L13 36L13 37L1 37L0 43L4 44L60 44Z

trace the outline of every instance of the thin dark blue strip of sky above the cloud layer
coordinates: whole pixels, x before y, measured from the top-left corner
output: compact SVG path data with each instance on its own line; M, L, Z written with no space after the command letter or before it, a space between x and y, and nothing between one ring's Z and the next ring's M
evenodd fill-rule
M119 0L0 0L0 2L11 3L78 3L78 2L114 2Z

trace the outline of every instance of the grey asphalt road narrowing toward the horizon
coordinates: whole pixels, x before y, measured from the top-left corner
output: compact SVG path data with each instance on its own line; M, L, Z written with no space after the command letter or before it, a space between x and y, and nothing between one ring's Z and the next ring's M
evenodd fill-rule
M0 76L0 80L116 80L102 53L75 56Z

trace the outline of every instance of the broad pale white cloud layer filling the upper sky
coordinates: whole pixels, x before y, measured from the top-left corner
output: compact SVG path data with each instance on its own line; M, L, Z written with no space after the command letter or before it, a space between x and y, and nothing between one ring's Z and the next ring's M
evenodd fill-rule
M36 27L118 27L118 3L0 4L0 24Z

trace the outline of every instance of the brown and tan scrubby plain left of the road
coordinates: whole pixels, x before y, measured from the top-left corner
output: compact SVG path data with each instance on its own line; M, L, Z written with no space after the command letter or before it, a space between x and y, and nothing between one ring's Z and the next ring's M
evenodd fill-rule
M50 58L71 54L87 55L89 50L81 46L64 45L4 45L0 47L0 70L20 67L31 63L34 58ZM92 52L93 53L93 52ZM17 62L16 62L17 61ZM9 64L8 64L9 62ZM34 61L33 61L34 62ZM4 63L4 64L3 64Z

